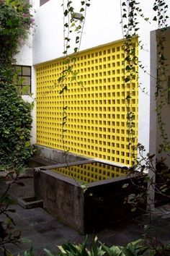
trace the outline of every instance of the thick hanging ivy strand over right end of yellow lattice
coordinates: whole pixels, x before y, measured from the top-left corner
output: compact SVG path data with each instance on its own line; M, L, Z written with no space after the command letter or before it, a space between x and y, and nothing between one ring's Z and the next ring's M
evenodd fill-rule
M125 106L127 109L127 127L129 137L130 158L135 164L135 113L132 107L132 92L135 90L135 81L138 80L138 13L143 17L141 9L136 1L122 1L122 33L125 38L124 43L124 72L125 72Z

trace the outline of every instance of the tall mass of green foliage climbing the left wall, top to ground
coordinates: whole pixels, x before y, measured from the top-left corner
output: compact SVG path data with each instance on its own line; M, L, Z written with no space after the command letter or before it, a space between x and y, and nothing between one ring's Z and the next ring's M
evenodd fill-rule
M17 95L14 54L34 21L27 0L0 0L0 4L0 166L19 170L32 154L32 105Z

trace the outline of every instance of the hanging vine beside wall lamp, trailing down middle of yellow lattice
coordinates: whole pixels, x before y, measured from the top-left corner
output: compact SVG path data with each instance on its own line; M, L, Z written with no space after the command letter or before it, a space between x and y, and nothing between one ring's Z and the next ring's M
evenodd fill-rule
M63 150L65 155L66 163L67 155L65 146L65 133L67 131L67 108L65 101L65 93L69 90L67 81L70 79L72 81L76 81L79 86L82 86L82 82L77 80L77 75L79 74L77 71L73 69L76 64L76 58L79 54L79 50L81 47L81 39L84 30L84 22L86 19L86 8L90 6L90 0L81 1L81 7L79 12L74 11L73 1L64 1L63 0L63 71L61 72L61 76L58 78L58 84L61 86L60 94L63 98L63 114L62 114L62 141L63 141ZM73 48L73 54L69 54L69 50Z

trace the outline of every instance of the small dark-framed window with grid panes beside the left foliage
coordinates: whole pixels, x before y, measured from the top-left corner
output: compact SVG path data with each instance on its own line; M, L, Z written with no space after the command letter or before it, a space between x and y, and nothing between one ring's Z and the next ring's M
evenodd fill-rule
M17 82L17 93L19 95L28 95L31 93L31 67L19 66L16 67L17 75L15 82Z

